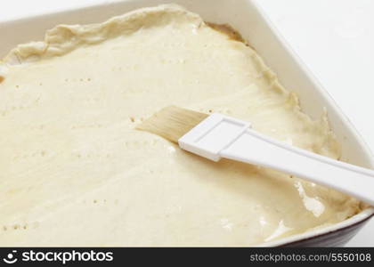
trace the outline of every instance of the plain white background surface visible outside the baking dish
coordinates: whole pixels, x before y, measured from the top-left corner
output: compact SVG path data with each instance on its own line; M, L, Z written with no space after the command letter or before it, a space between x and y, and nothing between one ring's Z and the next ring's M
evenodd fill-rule
M0 23L40 12L114 1L1 0ZM374 151L374 1L257 2ZM348 246L374 247L374 219Z

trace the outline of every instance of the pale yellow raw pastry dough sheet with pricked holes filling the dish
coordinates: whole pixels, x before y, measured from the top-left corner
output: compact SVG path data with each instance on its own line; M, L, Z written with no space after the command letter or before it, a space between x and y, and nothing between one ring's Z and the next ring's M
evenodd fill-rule
M58 26L0 66L0 246L250 246L359 210L336 191L134 130L175 104L339 157L325 117L305 116L254 50L183 8Z

